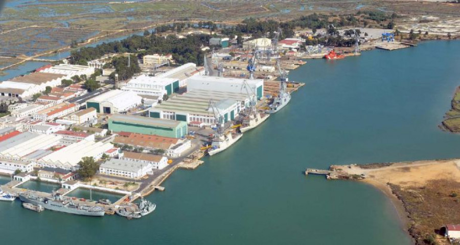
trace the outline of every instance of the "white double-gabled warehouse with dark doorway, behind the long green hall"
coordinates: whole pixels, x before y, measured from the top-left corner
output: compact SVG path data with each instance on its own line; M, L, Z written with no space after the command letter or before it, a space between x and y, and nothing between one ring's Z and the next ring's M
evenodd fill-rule
M117 114L142 104L142 97L131 91L111 90L86 101L86 108L97 113Z

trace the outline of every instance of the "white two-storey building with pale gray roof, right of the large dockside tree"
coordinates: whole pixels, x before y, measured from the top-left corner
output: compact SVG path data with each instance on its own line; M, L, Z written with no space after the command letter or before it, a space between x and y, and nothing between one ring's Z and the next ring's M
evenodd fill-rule
M140 179L151 171L152 165L150 164L113 158L99 166L99 173L101 174L126 177L129 179Z

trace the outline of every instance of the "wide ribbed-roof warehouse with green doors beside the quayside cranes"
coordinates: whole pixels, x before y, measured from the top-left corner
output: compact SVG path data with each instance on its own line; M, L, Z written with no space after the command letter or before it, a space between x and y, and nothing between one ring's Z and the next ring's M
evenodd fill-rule
M215 103L214 112L210 100ZM234 120L248 105L249 99L240 93L193 90L150 108L149 117L213 125L216 124L214 113L222 115L227 122Z

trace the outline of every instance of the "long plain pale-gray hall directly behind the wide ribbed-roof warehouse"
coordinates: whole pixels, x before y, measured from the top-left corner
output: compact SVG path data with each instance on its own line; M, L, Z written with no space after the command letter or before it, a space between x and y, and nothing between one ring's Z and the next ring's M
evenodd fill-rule
M243 86L247 83L249 87ZM228 77L211 77L211 76L195 76L189 79L187 85L188 91L204 90L215 92L228 92L247 95L256 94L260 100L264 96L264 80L263 79L242 79Z

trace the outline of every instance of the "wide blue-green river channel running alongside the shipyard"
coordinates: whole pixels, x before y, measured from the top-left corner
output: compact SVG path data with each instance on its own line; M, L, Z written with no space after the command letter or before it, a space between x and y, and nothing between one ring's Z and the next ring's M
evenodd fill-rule
M198 169L172 174L166 191L148 197L157 204L149 216L37 214L18 202L0 203L0 220L8 220L0 222L2 239L49 244L50 235L77 234L87 244L410 244L379 190L302 171L460 157L460 137L437 128L460 83L459 52L460 41L433 41L309 60L290 73L306 86L288 106ZM21 225L38 222L21 235Z

